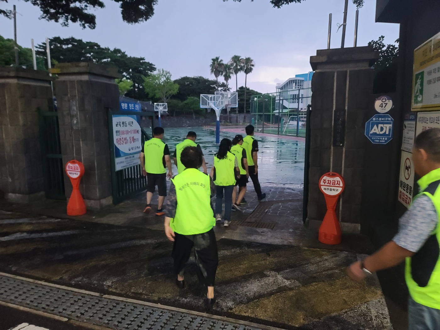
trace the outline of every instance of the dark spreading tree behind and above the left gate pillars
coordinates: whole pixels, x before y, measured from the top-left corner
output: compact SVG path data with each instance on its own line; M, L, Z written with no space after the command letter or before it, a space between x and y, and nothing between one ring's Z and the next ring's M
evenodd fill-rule
M49 40L51 59L55 62L94 62L116 66L124 78L133 82L133 88L125 96L144 101L149 95L143 87L143 76L156 70L154 65L143 57L129 56L119 48L103 48L98 43L81 39L54 37ZM37 46L37 55L47 59L46 44Z

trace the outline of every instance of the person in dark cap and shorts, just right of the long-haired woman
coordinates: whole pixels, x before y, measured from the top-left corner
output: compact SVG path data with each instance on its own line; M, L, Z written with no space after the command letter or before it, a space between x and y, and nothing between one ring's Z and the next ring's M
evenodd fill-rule
M246 150L242 147L242 144L242 135L238 134L232 139L231 153L235 154L235 157L237 157L238 167L240 168L240 179L238 179L236 183L236 186L238 186L238 198L236 198L237 190L234 187L234 191L232 192L232 206L239 211L241 210L240 203L246 194L246 185L249 178Z

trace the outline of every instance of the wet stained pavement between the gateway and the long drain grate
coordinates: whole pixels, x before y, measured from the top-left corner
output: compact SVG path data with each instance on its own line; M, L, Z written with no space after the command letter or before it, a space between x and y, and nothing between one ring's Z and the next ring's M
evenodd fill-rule
M300 329L389 329L377 279L354 283L356 253L218 241L212 313ZM0 214L0 271L93 292L203 312L194 258L179 290L162 231Z

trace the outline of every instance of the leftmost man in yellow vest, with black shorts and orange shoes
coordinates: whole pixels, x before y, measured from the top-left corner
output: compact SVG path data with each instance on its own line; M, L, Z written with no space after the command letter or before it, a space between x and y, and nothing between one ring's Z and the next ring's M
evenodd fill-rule
M156 215L164 215L162 209L166 197L166 167L168 167L168 177L172 177L171 158L169 157L168 145L162 142L164 138L164 129L155 127L153 130L153 139L145 141L143 150L140 153L140 163L143 175L147 176L147 206L144 213L151 211L151 198L154 190L158 186L158 209ZM166 166L166 167L165 167Z

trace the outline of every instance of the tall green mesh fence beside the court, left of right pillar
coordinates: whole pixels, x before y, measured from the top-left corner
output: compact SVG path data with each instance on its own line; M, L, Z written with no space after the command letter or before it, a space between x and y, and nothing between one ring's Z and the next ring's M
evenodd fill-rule
M305 136L311 88L253 95L250 120L258 132Z

